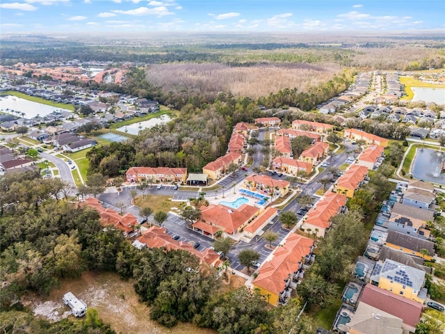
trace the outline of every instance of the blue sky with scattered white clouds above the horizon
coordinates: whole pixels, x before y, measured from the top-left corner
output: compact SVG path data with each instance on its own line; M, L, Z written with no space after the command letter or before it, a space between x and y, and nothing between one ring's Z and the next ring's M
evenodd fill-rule
M1 0L0 33L445 31L444 0Z

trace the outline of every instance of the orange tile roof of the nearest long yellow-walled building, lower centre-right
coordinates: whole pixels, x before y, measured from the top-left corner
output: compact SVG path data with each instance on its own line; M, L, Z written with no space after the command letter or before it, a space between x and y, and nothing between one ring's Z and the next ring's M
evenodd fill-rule
M290 273L298 270L299 262L311 252L313 243L314 241L307 237L296 233L289 234L285 244L275 248L272 259L259 268L253 285L280 294L286 285L284 280L289 278Z

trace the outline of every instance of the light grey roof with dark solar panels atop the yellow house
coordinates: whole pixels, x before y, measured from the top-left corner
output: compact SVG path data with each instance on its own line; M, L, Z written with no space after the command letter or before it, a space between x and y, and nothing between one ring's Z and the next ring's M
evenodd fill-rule
M386 259L383 263L377 262L375 264L371 275L371 280L375 282L379 282L380 278L387 278L419 291L423 287L425 271Z

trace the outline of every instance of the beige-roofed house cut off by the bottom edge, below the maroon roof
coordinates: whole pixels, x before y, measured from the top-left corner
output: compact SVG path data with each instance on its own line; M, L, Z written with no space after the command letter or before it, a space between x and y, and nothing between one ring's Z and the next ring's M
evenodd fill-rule
M401 318L362 301L346 324L349 334L403 334L402 326Z

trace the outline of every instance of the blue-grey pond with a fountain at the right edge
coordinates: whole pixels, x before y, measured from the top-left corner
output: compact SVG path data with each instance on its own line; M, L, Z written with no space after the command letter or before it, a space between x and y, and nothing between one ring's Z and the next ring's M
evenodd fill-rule
M445 152L418 148L412 165L412 176L417 180L445 184L445 175L441 173L444 161Z

